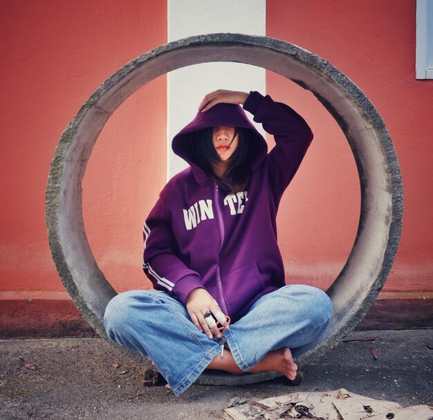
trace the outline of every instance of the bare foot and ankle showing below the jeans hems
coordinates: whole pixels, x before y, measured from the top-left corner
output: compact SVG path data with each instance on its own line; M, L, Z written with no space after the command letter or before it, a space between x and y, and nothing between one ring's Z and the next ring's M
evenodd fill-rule
M216 356L208 365L208 369L223 370L237 375L273 371L279 372L293 381L296 377L297 365L293 362L290 349L284 348L270 351L257 365L245 372L236 364L230 350L225 349L223 358L219 355Z

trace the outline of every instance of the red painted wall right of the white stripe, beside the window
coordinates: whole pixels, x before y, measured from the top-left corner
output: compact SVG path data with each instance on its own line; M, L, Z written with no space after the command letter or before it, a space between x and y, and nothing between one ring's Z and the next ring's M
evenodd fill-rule
M268 0L266 5L266 35L324 57L360 86L383 117L405 195L403 234L384 290L431 291L433 80L415 79L416 1ZM286 271L326 287L356 235L355 162L342 131L311 93L271 72L266 81L268 93L293 104L315 133L279 212Z

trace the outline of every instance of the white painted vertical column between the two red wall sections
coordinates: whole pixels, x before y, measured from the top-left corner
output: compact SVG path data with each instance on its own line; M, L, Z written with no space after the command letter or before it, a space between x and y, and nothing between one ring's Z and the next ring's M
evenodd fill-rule
M208 33L266 35L266 0L167 0L167 6L168 42ZM167 179L187 167L172 152L172 138L194 118L203 96L216 89L264 94L266 70L248 64L216 62L168 73ZM264 134L261 126L260 130Z

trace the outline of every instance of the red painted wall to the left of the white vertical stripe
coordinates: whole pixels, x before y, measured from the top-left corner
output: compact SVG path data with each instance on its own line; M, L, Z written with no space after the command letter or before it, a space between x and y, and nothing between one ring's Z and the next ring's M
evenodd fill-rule
M167 42L166 9L165 1L0 3L0 291L64 291L45 224L55 147L107 77ZM116 110L84 176L86 232L102 270L120 289L125 279L143 277L140 230L154 204L145 194L165 181L165 122L163 76Z

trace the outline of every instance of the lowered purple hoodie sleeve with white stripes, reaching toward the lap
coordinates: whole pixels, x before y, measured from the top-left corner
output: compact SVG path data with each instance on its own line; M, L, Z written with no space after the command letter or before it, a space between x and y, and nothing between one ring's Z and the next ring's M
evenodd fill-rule
M190 292L204 287L199 273L190 270L178 257L167 213L163 200L158 199L145 221L142 268L154 289L176 295L185 305Z

